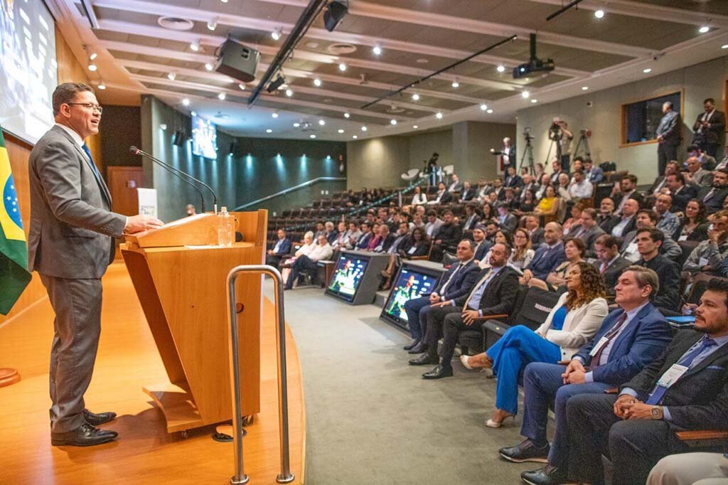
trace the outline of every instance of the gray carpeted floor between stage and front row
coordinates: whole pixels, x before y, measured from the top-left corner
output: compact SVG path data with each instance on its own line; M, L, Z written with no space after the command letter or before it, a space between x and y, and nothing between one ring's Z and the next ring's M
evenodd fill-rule
M425 381L430 366L408 366L409 336L380 311L321 290L285 292L306 393L306 483L518 484L522 470L539 468L499 458L521 441L521 420L483 425L493 379L456 363L454 377Z

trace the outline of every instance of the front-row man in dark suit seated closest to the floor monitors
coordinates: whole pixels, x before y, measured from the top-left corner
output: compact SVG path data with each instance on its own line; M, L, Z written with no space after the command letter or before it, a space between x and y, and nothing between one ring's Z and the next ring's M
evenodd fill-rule
M475 284L475 277L478 276L478 265L473 261L475 242L469 239L460 241L457 245L456 256L458 263L453 264L440 278L440 283L432 293L405 303L412 342L405 345L404 350L408 350L411 354L427 351L427 344L423 338L424 331L427 329L427 312L430 310L430 305L467 295L472 285Z

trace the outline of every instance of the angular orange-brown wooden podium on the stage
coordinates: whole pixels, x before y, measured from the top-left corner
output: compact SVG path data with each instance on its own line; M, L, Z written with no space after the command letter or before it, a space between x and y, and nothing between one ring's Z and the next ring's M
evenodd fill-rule
M231 213L244 242L216 245L205 213L126 237L122 256L170 382L143 387L174 433L232 419L226 277L264 264L268 213ZM237 279L242 414L260 411L262 276Z

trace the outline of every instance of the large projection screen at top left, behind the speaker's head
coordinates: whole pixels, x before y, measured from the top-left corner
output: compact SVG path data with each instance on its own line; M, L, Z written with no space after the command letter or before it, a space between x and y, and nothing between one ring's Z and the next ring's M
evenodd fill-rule
M41 0L0 0L0 126L35 143L53 125L53 17Z

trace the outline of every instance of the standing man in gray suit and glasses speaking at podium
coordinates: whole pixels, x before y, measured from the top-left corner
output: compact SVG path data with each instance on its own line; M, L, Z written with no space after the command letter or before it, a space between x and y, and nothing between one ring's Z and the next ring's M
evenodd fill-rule
M111 194L84 138L98 133L101 107L91 87L64 83L53 92L55 125L31 151L28 269L40 274L55 312L50 357L51 443L91 446L116 438L96 426L116 414L84 407L101 318L101 277L114 259L114 237L162 226L151 216L111 212Z

